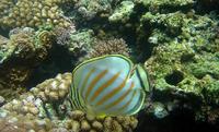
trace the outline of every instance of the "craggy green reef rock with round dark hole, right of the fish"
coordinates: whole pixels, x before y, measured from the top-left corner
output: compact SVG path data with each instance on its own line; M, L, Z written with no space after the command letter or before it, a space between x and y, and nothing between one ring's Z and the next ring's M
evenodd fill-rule
M199 115L203 106L211 106L209 111L219 106L219 45L217 32L214 32L218 21L214 15L177 11L147 12L141 16L143 25L151 25L148 44L154 48L145 64L154 82L155 100L163 101L171 110L175 106L191 109L196 120L207 120ZM162 100L165 96L169 99ZM173 100L178 103L171 103Z

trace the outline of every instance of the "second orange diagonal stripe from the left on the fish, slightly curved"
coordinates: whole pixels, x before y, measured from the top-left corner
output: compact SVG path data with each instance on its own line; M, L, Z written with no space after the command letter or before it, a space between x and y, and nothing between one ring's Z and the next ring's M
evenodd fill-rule
M100 74L97 74L90 83L88 91L85 93L85 100L88 101L88 96L91 93L91 91L94 88L95 84L108 72L108 70L102 71Z

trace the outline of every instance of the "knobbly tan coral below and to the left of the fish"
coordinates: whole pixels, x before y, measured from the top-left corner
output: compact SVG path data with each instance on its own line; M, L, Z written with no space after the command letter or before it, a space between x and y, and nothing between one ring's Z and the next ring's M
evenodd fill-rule
M68 93L70 76L70 73L58 74L55 79L33 87L31 93L23 94L5 104L0 108L0 129L3 131L126 132L132 131L137 127L138 121L135 117L93 117L80 110L72 110L67 99L62 104L56 104L57 98L46 95L47 87L51 85L58 91ZM56 85L57 82L66 85ZM44 93L47 99L42 98L41 93ZM59 97L65 98L67 95ZM57 107L59 109L56 109Z

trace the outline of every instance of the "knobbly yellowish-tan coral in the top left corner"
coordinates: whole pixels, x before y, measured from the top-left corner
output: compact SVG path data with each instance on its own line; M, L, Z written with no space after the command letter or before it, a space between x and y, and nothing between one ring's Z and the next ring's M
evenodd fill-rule
M1 0L0 25L2 28L39 27L41 25L58 25L67 27L70 21L64 16L61 3L71 0Z

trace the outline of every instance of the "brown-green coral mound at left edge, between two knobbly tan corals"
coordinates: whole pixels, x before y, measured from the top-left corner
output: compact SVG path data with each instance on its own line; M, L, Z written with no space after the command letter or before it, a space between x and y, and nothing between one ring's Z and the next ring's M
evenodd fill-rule
M0 95L12 98L25 91L32 70L46 59L51 48L53 34L32 28L16 28L10 39L0 45Z

